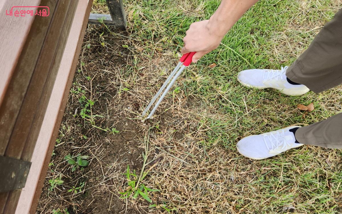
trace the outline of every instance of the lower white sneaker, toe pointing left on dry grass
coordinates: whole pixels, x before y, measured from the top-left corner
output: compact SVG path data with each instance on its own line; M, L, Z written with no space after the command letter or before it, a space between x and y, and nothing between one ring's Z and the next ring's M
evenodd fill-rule
M289 131L295 127L300 126L289 126L261 135L250 135L242 138L237 142L237 150L247 158L261 160L303 146L302 143L295 143L294 134Z

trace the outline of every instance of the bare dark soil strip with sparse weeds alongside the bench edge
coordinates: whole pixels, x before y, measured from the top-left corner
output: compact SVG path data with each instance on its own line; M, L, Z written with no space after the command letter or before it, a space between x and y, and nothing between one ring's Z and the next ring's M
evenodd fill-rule
M122 44L122 37L88 27L37 213L145 213L127 206L116 189L127 165L141 169L143 151L134 115L121 111L140 109L120 79L129 60ZM88 155L89 165L72 172L64 160L69 153ZM63 183L52 188L56 179Z

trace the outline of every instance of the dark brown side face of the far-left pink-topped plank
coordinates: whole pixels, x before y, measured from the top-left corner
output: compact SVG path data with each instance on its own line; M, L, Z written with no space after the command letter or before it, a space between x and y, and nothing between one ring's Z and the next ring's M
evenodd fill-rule
M51 14L54 13L57 5L57 0L42 0L41 4L50 7L50 16L36 16L30 29L30 32L36 33L28 34L27 38L21 38L22 40L26 39L26 42L0 105L0 155L4 155L8 145L15 120L24 100L40 49L52 19ZM4 37L8 37L8 35L4 35Z

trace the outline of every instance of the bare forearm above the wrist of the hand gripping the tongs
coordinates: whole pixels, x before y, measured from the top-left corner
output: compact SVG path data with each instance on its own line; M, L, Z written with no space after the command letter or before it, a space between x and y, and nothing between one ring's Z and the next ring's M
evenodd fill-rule
M220 7L210 17L208 28L217 36L223 37L232 26L258 0L222 0Z

